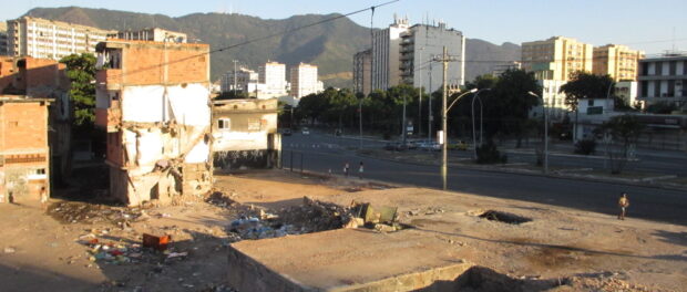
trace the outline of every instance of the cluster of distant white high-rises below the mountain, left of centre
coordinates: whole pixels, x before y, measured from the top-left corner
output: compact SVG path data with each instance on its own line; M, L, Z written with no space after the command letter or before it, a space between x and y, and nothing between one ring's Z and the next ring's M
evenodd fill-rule
M290 105L298 105L301 97L325 90L316 65L300 63L290 67L289 73L290 82L287 82L286 64L271 61L259 66L258 72L240 66L222 76L221 90L246 93L258 100L278 98Z

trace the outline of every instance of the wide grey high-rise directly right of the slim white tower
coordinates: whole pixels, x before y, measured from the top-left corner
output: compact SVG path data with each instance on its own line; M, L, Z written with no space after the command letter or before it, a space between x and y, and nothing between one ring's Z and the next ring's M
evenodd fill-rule
M441 87L443 71L441 66L431 70L430 64L432 58L443 54L444 46L449 55L455 60L449 63L447 82L450 85L463 85L465 36L460 31L448 29L443 22L439 22L438 25L416 24L401 33L399 56L401 83L424 87L430 92Z

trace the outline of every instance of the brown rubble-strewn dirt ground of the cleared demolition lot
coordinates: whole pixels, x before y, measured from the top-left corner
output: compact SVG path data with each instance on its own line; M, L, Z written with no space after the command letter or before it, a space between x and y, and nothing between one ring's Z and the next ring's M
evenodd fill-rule
M229 226L259 208L278 212L300 206L304 196L399 206L402 222L431 230L428 236L453 246L466 261L513 279L570 279L571 290L560 291L687 286L687 228L681 226L281 170L217 176L215 187L223 196L168 207L127 209L58 199L48 211L0 205L0 290L233 291L225 251L239 238ZM479 217L486 210L531 221ZM143 233L170 234L172 243L165 252L142 249Z

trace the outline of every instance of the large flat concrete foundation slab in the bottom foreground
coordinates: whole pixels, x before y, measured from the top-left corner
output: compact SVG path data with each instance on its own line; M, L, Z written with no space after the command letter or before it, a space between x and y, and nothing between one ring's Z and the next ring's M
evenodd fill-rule
M453 291L473 264L454 246L419 230L339 229L229 248L239 291Z

